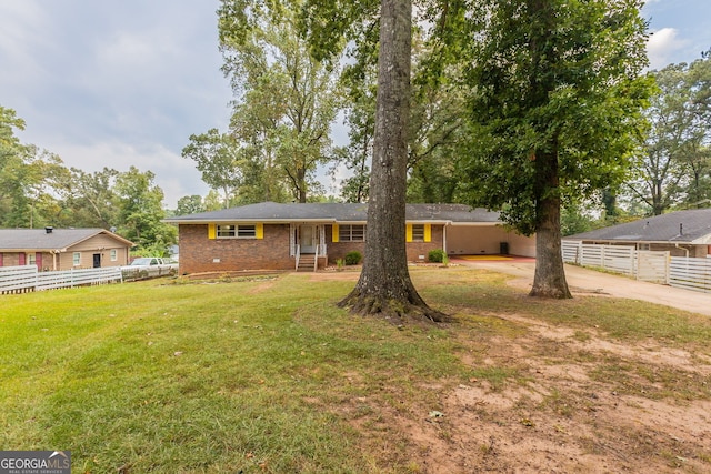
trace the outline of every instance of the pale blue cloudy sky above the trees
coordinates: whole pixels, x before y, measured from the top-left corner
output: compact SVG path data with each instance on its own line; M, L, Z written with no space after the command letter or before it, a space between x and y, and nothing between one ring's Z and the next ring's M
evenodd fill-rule
M0 105L19 137L91 172L152 171L166 205L204 195L180 155L191 133L227 129L218 0L0 0ZM711 0L650 0L652 69L711 48Z

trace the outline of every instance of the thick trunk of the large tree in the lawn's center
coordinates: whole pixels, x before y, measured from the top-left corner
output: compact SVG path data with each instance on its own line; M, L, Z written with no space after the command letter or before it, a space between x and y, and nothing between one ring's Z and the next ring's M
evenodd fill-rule
M365 254L360 280L340 305L361 314L441 321L444 315L414 289L405 252L411 22L411 0L382 0Z

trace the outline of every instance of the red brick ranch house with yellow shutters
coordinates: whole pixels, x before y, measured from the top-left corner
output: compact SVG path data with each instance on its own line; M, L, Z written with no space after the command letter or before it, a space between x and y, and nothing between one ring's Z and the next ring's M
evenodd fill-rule
M180 215L180 272L311 270L364 249L368 204L263 202ZM507 231L499 213L461 204L408 204L408 260L430 250L454 254L534 256L535 240ZM365 259L368 255L363 255ZM306 265L304 265L306 262Z

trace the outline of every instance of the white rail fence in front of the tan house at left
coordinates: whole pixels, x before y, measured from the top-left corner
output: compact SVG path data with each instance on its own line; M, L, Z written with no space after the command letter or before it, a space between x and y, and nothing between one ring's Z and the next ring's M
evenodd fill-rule
M123 282L121 269L78 269L40 272L34 265L0 266L0 294Z

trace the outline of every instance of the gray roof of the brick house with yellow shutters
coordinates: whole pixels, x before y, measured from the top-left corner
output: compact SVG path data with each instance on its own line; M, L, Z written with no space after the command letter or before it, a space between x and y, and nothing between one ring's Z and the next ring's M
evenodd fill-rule
M206 222L365 222L368 204L358 203L276 203L261 202L220 211L166 219L172 223ZM497 223L499 213L472 209L465 204L408 204L405 219L411 222Z

